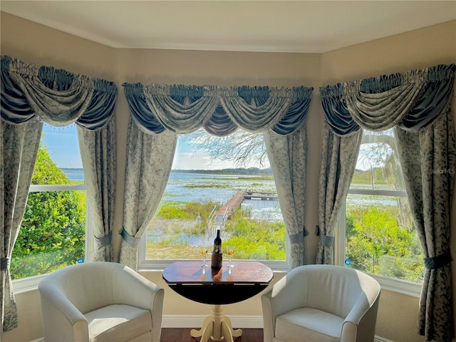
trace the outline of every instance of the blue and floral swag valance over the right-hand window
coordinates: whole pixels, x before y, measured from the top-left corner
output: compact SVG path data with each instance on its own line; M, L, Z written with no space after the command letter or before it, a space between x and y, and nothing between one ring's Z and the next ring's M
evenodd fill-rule
M450 103L455 70L438 65L320 88L326 123L336 135L395 125L417 131Z

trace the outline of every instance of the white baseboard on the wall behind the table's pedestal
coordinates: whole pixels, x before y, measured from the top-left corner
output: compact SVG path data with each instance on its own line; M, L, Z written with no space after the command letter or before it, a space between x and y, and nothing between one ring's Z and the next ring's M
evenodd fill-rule
M263 316L228 315L233 328L263 328ZM202 326L202 315L163 315L162 328L198 328Z

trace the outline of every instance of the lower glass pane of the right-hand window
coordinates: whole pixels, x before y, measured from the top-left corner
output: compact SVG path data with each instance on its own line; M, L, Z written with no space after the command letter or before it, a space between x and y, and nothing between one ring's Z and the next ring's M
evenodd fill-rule
M346 264L414 283L423 257L406 197L348 195Z

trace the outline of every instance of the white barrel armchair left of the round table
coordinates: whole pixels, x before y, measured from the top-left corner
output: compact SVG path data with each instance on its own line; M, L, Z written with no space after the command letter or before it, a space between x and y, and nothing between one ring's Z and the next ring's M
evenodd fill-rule
M164 291L127 266L67 266L38 290L46 342L160 342Z

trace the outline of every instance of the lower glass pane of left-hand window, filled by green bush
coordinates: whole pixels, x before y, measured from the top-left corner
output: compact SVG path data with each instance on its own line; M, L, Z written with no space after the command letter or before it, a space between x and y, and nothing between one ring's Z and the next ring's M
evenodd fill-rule
M78 263L86 251L86 191L30 192L11 258L11 278Z

